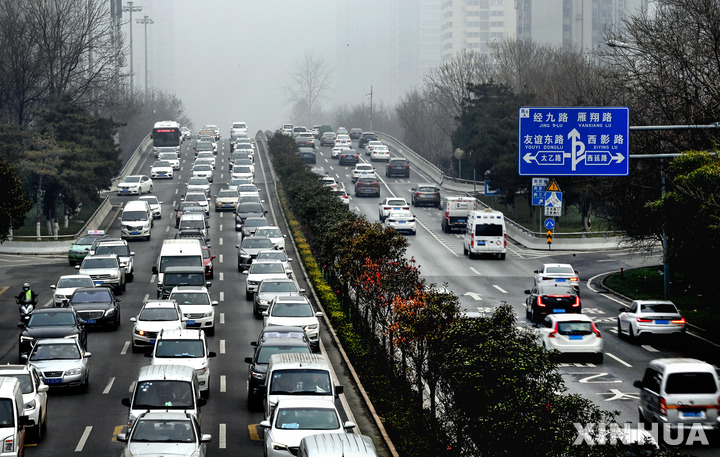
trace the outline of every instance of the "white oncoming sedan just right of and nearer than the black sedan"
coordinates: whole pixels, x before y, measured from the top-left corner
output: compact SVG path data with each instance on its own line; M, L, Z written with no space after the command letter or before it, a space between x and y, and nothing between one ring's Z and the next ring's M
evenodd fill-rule
M161 330L174 330L185 326L180 307L172 300L145 302L138 315L130 318L130 322L135 324L131 341L133 352L155 346Z

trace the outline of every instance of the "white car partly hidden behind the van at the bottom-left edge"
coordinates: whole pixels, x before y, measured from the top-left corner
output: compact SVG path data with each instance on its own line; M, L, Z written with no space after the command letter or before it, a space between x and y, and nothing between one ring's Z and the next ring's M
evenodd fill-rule
M47 430L47 391L43 377L32 365L0 365L0 376L17 378L23 396L23 416L32 419L34 425L26 426L33 442L42 440Z

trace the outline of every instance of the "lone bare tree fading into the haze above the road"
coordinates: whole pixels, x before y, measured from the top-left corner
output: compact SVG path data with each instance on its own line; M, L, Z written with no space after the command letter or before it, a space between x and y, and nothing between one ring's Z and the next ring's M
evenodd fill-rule
M302 121L311 126L329 89L331 71L327 62L313 52L306 52L295 68L286 90L294 104L293 114L303 112Z

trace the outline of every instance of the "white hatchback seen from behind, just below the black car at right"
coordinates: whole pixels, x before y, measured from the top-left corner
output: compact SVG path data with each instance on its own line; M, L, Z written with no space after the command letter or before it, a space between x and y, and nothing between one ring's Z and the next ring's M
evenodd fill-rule
M603 340L595 323L585 314L548 314L538 327L540 344L562 353L592 354L603 360Z

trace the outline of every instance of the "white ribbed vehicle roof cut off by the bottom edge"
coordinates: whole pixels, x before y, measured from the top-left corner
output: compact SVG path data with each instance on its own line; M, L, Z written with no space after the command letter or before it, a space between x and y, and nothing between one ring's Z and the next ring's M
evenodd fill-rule
M357 433L317 433L300 440L298 457L377 457L369 436Z

